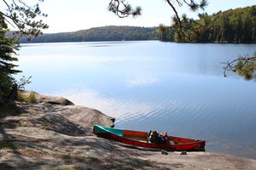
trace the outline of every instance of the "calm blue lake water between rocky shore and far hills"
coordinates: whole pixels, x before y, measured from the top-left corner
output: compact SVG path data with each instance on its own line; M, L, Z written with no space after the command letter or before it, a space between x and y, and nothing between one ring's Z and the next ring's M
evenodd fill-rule
M256 82L220 64L256 44L22 44L26 88L116 117L115 127L205 139L206 150L256 159Z

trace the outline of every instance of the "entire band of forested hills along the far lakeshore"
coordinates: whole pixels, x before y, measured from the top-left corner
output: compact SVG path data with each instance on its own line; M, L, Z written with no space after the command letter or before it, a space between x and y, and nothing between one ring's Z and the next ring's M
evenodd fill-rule
M216 14L199 14L200 20L191 20L184 30L190 37L187 42L256 42L256 5L246 8L230 9ZM200 25L195 24L195 21ZM192 35L192 36L191 36ZM179 39L172 27L138 27L138 26L102 26L89 30L44 34L20 42L99 42L99 41L133 41L160 40L185 42Z

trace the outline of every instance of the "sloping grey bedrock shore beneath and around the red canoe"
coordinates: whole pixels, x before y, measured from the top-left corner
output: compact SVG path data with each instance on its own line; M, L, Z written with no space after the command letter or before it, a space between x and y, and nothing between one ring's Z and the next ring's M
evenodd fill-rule
M256 169L253 159L208 152L161 155L98 138L93 125L113 127L113 117L61 97L34 97L33 103L15 101L12 111L0 110L0 170Z

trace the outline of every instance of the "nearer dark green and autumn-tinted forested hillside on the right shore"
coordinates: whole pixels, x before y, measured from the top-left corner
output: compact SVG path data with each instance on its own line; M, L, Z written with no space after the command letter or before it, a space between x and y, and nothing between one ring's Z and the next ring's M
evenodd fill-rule
M200 14L200 25L191 21L188 25L197 31L190 36L190 42L256 42L256 5L246 8L230 9L217 14ZM193 35L193 29L185 30L186 35ZM172 27L160 26L161 41L181 40Z

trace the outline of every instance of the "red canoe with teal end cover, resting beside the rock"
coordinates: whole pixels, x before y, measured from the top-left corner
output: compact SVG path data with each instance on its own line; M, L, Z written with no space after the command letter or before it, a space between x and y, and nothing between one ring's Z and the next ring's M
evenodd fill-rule
M154 144L148 142L148 133L117 129L113 127L102 127L94 125L93 133L103 138L114 139L124 144L155 148L161 150L205 150L206 141L195 139L183 139L168 136L174 144Z

